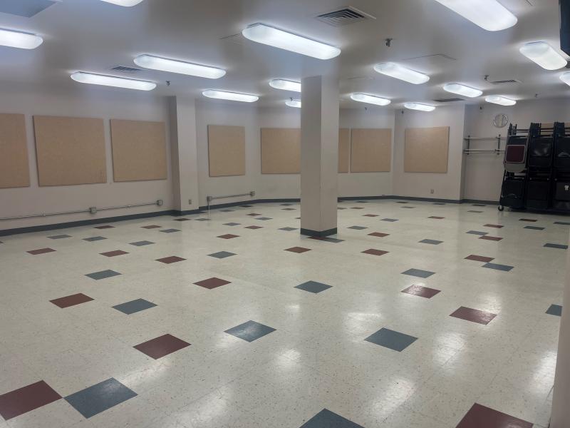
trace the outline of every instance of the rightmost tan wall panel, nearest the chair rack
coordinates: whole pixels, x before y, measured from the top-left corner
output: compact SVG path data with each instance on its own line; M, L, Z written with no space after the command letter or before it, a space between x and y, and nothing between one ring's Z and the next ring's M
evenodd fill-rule
M449 126L406 128L404 172L447 173Z

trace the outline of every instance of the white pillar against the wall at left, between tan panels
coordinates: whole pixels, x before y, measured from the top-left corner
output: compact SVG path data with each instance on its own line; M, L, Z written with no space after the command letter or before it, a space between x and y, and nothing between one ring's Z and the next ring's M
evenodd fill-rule
M195 99L171 97L169 108L174 209L184 214L199 208Z

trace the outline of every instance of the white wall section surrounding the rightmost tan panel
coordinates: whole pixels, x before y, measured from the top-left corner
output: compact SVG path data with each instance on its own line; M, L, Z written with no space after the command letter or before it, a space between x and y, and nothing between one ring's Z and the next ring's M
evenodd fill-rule
M438 107L435 111L395 112L393 195L460 200L465 106ZM447 173L405 173L405 128L450 127ZM433 193L431 190L433 189Z

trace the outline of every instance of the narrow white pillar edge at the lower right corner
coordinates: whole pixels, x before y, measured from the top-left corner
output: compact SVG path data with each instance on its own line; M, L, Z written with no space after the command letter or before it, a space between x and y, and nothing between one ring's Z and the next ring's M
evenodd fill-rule
M550 428L570 428L570 251L566 258L562 308Z

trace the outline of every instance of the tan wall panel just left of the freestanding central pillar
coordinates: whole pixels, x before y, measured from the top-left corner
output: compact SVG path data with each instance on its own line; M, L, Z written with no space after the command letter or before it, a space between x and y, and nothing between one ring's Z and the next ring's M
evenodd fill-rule
M261 128L261 173L301 172L301 129Z

